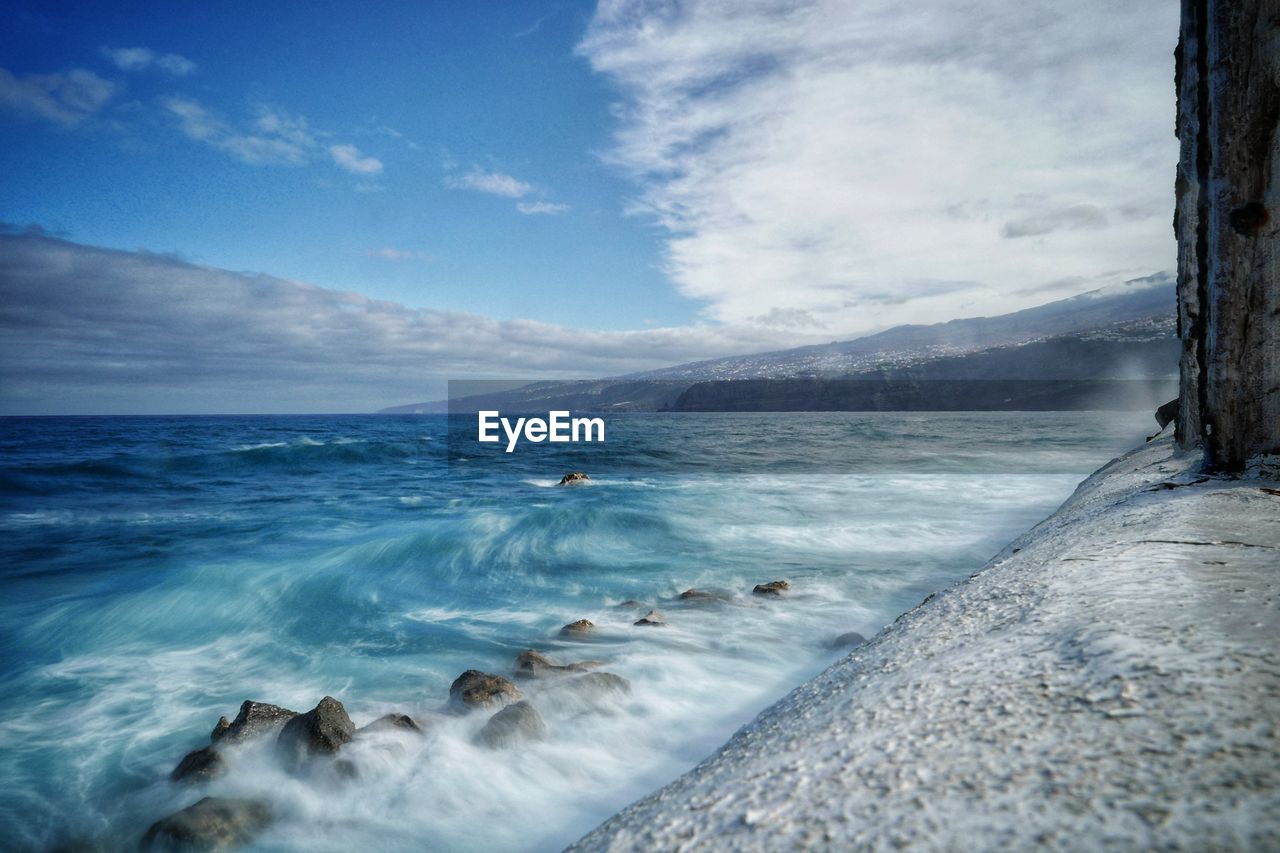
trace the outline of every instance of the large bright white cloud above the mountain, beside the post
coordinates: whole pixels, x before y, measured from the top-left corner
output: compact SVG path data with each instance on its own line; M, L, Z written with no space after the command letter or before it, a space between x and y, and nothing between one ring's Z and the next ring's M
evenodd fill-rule
M837 337L1170 268L1176 35L1164 0L602 0L580 53L680 292Z

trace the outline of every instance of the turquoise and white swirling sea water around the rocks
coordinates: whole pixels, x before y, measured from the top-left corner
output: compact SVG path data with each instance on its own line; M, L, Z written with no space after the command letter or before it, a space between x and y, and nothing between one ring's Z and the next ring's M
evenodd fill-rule
M471 421L467 421L468 424ZM838 652L979 567L1148 414L631 415L608 442L445 462L442 416L0 421L5 843L133 847L207 794L269 799L271 850L554 849L690 768ZM586 461L584 461L584 459ZM593 483L561 488L567 470ZM754 584L787 579L782 599ZM680 602L690 587L724 601ZM668 624L637 628L645 611ZM557 635L589 619L590 642ZM522 681L541 743L439 713L522 649L628 695ZM340 699L355 780L234 747L220 715Z

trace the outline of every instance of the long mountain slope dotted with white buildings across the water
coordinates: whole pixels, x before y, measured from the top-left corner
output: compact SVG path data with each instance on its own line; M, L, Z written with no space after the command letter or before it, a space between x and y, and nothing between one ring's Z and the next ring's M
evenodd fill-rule
M731 380L837 378L891 382L897 388L905 387L902 383L978 379L1164 380L1176 375L1178 352L1174 280L1161 273L1000 316L900 325L852 341L695 361L626 377L536 382L517 389L456 398L452 410L710 411L708 406L724 405L730 411L768 411L772 403L764 397L774 401L787 397L791 400L787 406L796 405L796 400L808 400L819 407L861 406L856 401L864 400L864 391L856 386L820 382L810 386L712 386ZM695 384L701 387L691 388ZM1148 387L1155 388L1152 394L1160 396L1165 386ZM1061 388L1059 398L1065 407L1079 407L1080 400L1092 398L1092 392L1082 387ZM753 393L764 397L753 400ZM823 393L836 394L844 402L823 402L815 397ZM956 394L956 405L963 402L961 392L947 393ZM1036 394L1037 407L1053 405L1050 389L1039 388ZM922 401L928 397L916 396ZM1134 397L1134 406L1144 407L1148 396ZM876 398L881 401L877 405L887 406L916 397L881 393ZM435 401L384 409L381 414L429 414L449 409L448 401Z

